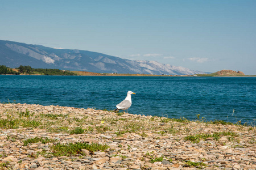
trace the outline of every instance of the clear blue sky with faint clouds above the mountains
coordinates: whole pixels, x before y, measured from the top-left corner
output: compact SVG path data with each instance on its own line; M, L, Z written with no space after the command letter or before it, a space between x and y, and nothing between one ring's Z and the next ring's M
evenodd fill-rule
M0 0L0 40L256 74L256 1Z

